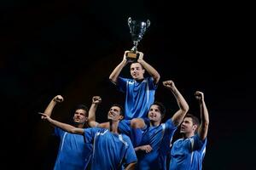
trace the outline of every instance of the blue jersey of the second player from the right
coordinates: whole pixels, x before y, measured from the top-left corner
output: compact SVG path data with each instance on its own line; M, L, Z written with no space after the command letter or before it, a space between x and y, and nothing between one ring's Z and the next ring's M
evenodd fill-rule
M166 169L166 156L170 152L170 144L172 136L177 127L169 119L166 123L157 127L148 127L143 132L143 140L141 145L150 144L152 151L137 152L137 169L138 170L158 170Z

